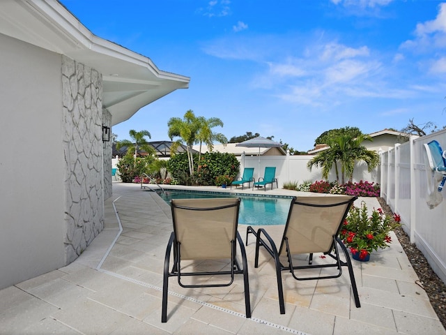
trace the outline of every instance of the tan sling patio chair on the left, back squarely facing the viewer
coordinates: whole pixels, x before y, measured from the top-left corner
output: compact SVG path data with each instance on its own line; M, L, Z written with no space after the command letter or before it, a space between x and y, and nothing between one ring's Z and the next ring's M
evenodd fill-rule
M233 283L235 274L243 274L246 317L251 318L246 252L237 231L239 208L240 198L171 200L174 232L171 233L164 258L162 322L167 322L167 292L171 276L176 276L178 284L183 288L213 288L229 286ZM240 267L236 257L236 241L240 245L243 267ZM172 248L174 264L169 270ZM228 260L229 267L221 271L192 271L183 267L182 262L187 260ZM217 275L225 275L224 278L227 279L217 281L214 278ZM183 278L187 276L213 278L200 284L194 283L190 277L189 281Z

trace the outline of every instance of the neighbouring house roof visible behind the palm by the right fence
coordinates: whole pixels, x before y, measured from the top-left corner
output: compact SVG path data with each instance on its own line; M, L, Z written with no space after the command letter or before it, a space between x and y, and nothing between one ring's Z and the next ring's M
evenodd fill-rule
M410 137L413 135L407 133L401 133L399 131L390 131L388 129L384 129L382 131L376 131L375 133L370 133L372 141L364 141L362 145L369 150L374 151L387 151L390 147L394 147L395 144L401 142L401 137ZM328 149L327 144L318 144L315 149L309 150L309 155L318 154L321 151Z

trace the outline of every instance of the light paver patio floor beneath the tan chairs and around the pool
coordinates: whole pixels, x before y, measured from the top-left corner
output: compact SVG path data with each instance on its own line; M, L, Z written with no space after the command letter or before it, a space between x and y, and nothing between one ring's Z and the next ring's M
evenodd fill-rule
M360 200L379 207L376 198ZM171 278L168 322L162 323L162 268L171 230L170 207L155 192L114 181L105 229L75 262L0 290L0 334L446 334L394 234L390 248L373 253L370 262L353 260L361 308L355 308L346 271L337 279L305 282L284 273L281 315L272 259L264 253L254 269L251 237L251 319L244 315L241 278L229 288L196 290ZM244 238L246 226L239 230ZM283 226L267 230L277 241Z

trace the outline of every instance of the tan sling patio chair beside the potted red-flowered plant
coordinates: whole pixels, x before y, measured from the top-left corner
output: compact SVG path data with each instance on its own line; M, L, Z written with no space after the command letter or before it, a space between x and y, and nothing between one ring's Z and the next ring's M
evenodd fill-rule
M275 260L277 275L277 290L279 294L280 313L285 313L284 291L282 288L282 271L291 272L291 276L298 281L313 279L337 278L342 274L342 267L347 267L350 274L353 296L356 307L360 307L360 299L357 295L357 288L350 256L344 243L339 239L339 232L348 214L348 210L356 197L350 195L322 195L293 198L289 209L288 218L284 229L284 234L280 242L279 251L275 242L265 229L260 228L255 231L249 226L247 228L246 243L248 234L256 236L256 255L254 266L259 267L259 248L263 246ZM264 235L264 238L262 237ZM339 248L344 253L345 260L339 257ZM334 260L334 262L323 262L314 265L313 253L323 253ZM293 265L293 255L309 254L308 265ZM280 257L286 257L288 265L283 265ZM336 274L319 276L300 276L299 269L320 269L326 267L336 267Z

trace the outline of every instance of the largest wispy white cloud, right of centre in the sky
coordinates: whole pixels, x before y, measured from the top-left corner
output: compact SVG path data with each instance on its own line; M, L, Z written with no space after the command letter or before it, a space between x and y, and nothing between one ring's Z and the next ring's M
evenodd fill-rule
M250 88L268 91L285 103L320 107L360 98L400 100L420 94L407 86L407 79L398 85L392 83L399 76L398 64L392 62L392 57L402 60L402 54L388 55L387 59L386 54L367 45L353 47L327 40L326 35L232 35L208 43L203 51L215 57L258 64L249 81ZM404 71L403 77L407 78L410 69Z

